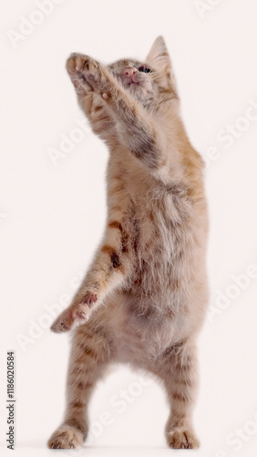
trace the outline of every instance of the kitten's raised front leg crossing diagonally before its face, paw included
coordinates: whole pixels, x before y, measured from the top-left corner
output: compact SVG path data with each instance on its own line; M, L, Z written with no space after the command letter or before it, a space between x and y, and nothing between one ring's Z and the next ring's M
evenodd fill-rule
M67 59L67 70L75 74L81 86L89 87L105 101L117 125L121 143L150 169L165 165L163 135L149 113L132 98L103 65L93 58L73 54Z

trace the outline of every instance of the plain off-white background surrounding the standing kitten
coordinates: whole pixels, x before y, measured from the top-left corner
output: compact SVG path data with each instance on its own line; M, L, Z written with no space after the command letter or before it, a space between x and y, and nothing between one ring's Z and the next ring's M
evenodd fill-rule
M7 350L15 351L16 361L16 455L52 455L46 440L64 412L69 336L49 332L49 309L55 314L60 297L64 301L75 292L105 223L105 145L87 132L68 154L60 149L61 135L73 135L76 120L83 119L66 58L78 51L103 62L143 60L161 34L170 49L190 140L200 154L212 154L206 171L212 314L199 340L194 418L201 448L194 455L252 457L257 450L257 279L255 271L239 286L232 275L257 265L257 108L251 108L254 102L257 107L256 0L64 0L52 5L49 16L35 13L34 0L1 5L1 455L10 452L5 444ZM41 23L15 41L24 18ZM225 139L230 125L234 133ZM56 165L49 148L62 153ZM221 293L227 298L222 295L219 302ZM93 438L81 453L172 452L163 433L169 413L165 395L155 381L144 387L141 382L139 373L118 367L99 385L90 409ZM111 401L122 389L128 389L131 402L120 412ZM105 411L109 425L103 426Z

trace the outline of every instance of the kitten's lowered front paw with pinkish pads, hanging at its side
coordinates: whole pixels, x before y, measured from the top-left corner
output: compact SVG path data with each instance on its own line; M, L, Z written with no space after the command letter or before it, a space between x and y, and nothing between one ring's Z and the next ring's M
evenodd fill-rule
M93 292L86 292L79 300L79 303L72 304L67 310L61 313L51 330L57 334L68 332L78 325L85 324L92 313L91 306L98 300L98 295Z

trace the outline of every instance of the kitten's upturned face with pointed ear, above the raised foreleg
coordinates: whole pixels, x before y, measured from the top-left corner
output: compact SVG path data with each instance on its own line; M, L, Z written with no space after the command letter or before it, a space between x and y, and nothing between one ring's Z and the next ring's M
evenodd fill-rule
M156 38L145 62L121 59L109 65L108 69L145 106L153 101L177 97L170 56L163 37Z

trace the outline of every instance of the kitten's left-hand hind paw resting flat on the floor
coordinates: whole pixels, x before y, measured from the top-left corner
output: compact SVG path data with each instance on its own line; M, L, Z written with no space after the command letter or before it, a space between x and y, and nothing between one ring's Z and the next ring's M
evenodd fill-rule
M59 427L47 442L50 449L74 449L83 444L82 431L65 424Z

